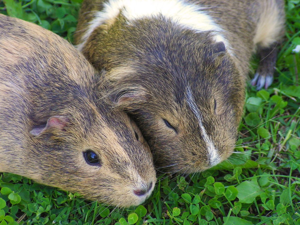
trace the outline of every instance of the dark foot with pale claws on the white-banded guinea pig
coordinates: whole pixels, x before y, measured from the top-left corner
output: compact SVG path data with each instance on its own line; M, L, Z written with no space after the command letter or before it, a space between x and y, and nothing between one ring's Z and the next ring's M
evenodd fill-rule
M277 49L276 44L258 51L260 61L251 85L256 86L257 90L268 88L273 82L273 74L276 65Z

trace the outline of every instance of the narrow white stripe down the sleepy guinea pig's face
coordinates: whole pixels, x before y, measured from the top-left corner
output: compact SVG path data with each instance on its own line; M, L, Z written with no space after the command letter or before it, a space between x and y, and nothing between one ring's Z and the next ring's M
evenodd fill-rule
M208 137L208 135L205 131L205 128L202 124L202 116L199 113L199 108L197 107L195 98L193 97L193 94L192 94L189 86L187 87L186 100L187 100L187 104L189 105L193 114L198 119L202 137L203 137L203 140L205 141L207 149L208 149L209 164L210 164L210 166L217 165L220 162L220 155L218 154L217 149L215 148L212 140Z

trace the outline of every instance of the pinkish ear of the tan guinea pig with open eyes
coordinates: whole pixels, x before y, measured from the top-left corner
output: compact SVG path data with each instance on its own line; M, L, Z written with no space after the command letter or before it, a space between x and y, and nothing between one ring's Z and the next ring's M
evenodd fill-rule
M64 126L67 124L67 119L64 116L51 116L47 123L44 125L39 125L34 127L31 131L29 131L30 134L33 136L38 136L44 131L47 131L49 128L55 128L55 129L63 129Z

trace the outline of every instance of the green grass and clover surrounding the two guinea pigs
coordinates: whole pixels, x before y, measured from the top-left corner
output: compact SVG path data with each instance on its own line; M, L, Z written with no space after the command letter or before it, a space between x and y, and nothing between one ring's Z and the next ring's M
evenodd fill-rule
M81 0L0 1L0 12L35 22L72 42ZM5 3L5 4L4 4ZM0 173L0 225L6 224L300 224L300 0L286 0L286 36L275 81L247 87L233 154L187 177L161 175L154 193L131 209ZM256 60L250 71L254 71Z

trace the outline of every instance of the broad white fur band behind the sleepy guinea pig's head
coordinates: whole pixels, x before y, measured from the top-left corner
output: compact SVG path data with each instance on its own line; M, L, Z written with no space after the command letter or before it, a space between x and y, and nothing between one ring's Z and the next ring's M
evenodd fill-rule
M182 0L110 0L104 3L102 11L95 13L94 19L89 22L88 29L82 36L82 44L78 45L77 48L81 50L96 27L105 24L107 21L113 21L122 10L122 15L127 18L129 23L131 20L161 14L189 29L199 32L214 31L215 41L224 42L230 52L229 43L221 34L223 30L205 13L204 9L204 7L186 3Z

